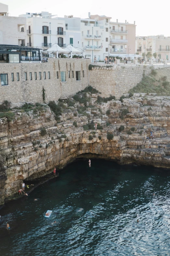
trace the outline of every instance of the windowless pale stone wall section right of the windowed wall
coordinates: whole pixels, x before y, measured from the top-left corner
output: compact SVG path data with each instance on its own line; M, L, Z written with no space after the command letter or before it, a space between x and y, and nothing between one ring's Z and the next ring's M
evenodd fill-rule
M114 65L113 67L94 67L90 71L89 84L101 92L103 97L115 95L119 99L129 89L149 75L152 68L164 68L167 65ZM169 66L168 66L169 67Z

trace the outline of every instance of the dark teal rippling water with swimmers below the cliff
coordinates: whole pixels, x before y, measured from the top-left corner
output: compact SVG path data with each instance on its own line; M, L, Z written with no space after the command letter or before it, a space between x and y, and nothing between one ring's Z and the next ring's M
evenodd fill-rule
M7 203L0 256L170 255L170 171L93 159L91 165L74 162Z

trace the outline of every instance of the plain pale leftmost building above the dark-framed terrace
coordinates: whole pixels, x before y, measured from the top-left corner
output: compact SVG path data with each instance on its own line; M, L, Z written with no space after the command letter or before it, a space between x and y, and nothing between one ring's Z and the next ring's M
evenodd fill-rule
M26 45L26 18L9 16L8 6L1 3L0 44Z

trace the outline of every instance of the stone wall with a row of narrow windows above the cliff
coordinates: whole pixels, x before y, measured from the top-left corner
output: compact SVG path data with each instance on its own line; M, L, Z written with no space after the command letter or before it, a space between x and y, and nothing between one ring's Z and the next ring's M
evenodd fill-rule
M11 103L42 103L43 87L46 102L75 94L89 84L89 64L89 59L49 59L47 63L1 63L0 74L8 74L8 85L0 86L0 102L8 100ZM61 81L61 71L66 72L65 82ZM80 81L76 81L76 71L80 71ZM39 72L41 72L41 79ZM46 72L46 79L44 79L44 72ZM48 72L50 72L50 79ZM14 74L14 81L11 73ZM19 73L19 81L17 81L17 73ZM27 73L27 80L25 80L25 73ZM30 73L32 73L32 80Z

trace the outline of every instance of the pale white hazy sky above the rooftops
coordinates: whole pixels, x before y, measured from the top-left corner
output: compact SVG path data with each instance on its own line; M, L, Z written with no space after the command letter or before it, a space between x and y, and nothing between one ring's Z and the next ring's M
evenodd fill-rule
M18 16L26 12L49 11L58 17L73 15L87 18L91 14L112 17L111 21L136 22L136 36L160 35L170 36L169 9L170 1L136 1L136 0L0 0L7 4L11 16Z

